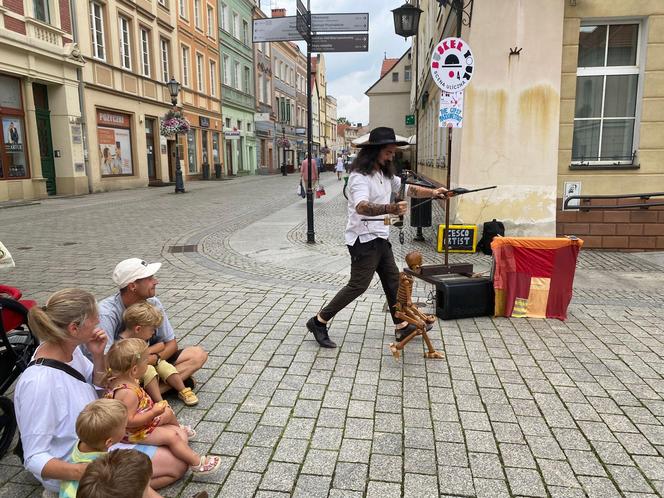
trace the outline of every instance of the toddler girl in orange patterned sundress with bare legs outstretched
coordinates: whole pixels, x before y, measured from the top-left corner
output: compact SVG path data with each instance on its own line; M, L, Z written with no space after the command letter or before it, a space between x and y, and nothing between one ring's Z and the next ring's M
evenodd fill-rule
M117 399L126 407L125 442L151 446L168 446L171 453L186 462L195 474L209 474L221 464L218 456L201 456L187 444L195 432L178 424L168 402L154 403L136 379L148 368L148 345L143 339L121 339L113 343L106 355L107 372L103 383L107 398Z

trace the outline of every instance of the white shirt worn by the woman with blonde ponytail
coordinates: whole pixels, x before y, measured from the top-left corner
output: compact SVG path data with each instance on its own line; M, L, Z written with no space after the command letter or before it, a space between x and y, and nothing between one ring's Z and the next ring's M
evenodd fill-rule
M97 399L92 387L94 367L79 348L69 366L88 383L55 368L33 365L21 374L14 393L25 468L46 489L56 492L60 481L44 479L44 466L53 458L67 459L76 442L76 418L85 405Z

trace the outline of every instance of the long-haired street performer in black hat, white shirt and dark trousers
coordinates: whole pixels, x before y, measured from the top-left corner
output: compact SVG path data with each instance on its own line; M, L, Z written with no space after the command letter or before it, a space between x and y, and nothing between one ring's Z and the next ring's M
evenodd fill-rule
M346 244L351 257L350 280L316 316L307 321L307 328L318 344L324 348L335 348L328 335L327 323L369 287L375 272L378 272L394 322L395 338L407 337L415 325L395 316L399 289L399 269L394 262L392 245L388 241L389 224L383 220L387 215L403 216L407 203L403 199L391 201L391 194L398 194L401 178L394 175L391 161L397 147L407 145L398 141L392 128L378 127L371 130L369 140L359 145L361 150L351 166L348 178L348 224ZM444 187L428 188L406 185L405 195L418 198L444 198L452 196ZM372 221L365 221L371 218Z

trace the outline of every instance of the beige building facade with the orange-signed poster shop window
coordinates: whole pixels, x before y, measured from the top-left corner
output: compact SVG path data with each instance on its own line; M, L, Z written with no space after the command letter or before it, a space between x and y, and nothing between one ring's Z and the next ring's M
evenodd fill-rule
M83 114L90 191L173 180L175 142L160 136L159 123L171 108L165 83L179 74L175 3L93 0L73 5L86 59ZM82 191L79 186L77 193Z

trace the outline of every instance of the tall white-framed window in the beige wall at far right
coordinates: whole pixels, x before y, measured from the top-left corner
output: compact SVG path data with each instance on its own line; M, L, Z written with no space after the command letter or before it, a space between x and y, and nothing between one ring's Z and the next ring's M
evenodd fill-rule
M631 164L637 130L639 24L579 32L572 162Z

